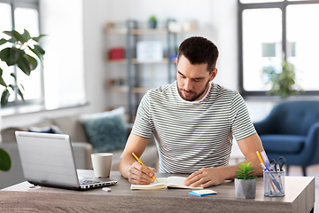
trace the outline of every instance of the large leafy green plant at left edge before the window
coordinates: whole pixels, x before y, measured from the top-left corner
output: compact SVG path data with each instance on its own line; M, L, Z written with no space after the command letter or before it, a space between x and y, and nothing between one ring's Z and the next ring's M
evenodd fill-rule
M19 34L16 30L4 31L5 35L10 36L9 39L0 39L0 46L4 45L4 49L0 51L0 60L4 61L7 67L17 66L27 76L31 71L35 70L38 66L37 59L43 61L45 51L40 45L40 38L44 35L31 37L27 29L24 29L23 34ZM31 53L32 55L30 55ZM36 59L37 58L37 59ZM1 65L1 64L0 64ZM0 85L4 86L4 91L1 95L1 105L4 106L8 103L10 92L17 90L21 99L24 100L23 85L16 84L16 76L14 73L10 75L14 78L13 84L7 84L4 81L3 74L5 67L0 67ZM9 154L3 149L0 149L0 170L10 170L11 160Z

